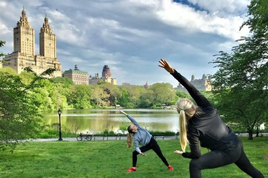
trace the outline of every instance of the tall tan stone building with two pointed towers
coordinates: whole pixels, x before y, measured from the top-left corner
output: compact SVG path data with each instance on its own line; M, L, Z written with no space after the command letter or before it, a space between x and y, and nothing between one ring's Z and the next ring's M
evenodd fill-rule
M41 74L48 68L55 68L52 76L62 76L62 64L56 57L56 35L50 28L47 16L39 33L40 55L35 54L35 31L32 29L26 16L26 11L22 10L20 20L13 29L13 52L6 55L3 60L3 67L11 67L18 74L25 67L31 67L34 72Z

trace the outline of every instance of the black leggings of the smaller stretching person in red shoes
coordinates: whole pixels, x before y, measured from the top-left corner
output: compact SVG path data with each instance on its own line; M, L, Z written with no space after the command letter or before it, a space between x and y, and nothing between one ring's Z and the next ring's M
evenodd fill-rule
M145 146L140 147L139 149L140 149L140 151L142 153L152 149L158 155L158 157L161 158L161 160L165 163L165 165L169 166L166 158L163 156L163 154L161 152L161 149L160 149L159 145L157 144L157 142L155 141L155 139L153 137L151 138L151 140L150 140L150 142L148 144L146 144ZM133 167L136 167L137 155L138 154L139 153L136 150L133 151L133 153L132 153L132 166Z

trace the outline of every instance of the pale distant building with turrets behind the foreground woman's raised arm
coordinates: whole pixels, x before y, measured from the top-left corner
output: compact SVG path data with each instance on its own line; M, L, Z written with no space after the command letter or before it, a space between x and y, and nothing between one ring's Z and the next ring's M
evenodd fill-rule
M211 80L209 77L207 78L205 74L203 74L202 79L196 79L196 77L193 74L190 83L194 85L195 88L197 88L199 91L201 90L211 91L212 89L211 84L210 84ZM187 89L185 89L180 83L174 89L180 89L182 91L187 92Z

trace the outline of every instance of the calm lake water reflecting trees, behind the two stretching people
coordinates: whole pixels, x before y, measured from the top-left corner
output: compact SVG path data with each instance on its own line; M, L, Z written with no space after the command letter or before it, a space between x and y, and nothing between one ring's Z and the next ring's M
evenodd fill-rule
M179 115L176 110L124 109L124 111L147 130L177 132L179 128ZM44 123L59 123L57 111L43 112L42 115ZM117 132L119 127L127 127L131 122L116 109L76 109L63 110L61 124L69 129L78 127L79 132L95 133L104 130Z

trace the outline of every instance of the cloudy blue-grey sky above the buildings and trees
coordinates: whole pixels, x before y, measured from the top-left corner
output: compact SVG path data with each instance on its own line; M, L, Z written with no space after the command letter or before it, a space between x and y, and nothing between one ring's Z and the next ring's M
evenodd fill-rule
M235 40L249 36L242 28L249 0L0 0L0 39L4 53L13 51L13 28L24 9L39 32L47 14L57 38L62 70L78 65L101 76L110 67L117 84L178 82L158 67L160 58L187 79L213 75L209 63L219 51L231 52Z

